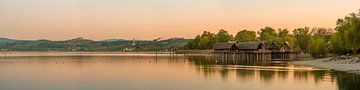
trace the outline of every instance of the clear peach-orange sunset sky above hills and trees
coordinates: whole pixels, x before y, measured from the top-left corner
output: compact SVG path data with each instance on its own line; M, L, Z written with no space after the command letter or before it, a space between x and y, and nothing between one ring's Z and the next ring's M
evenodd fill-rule
M334 28L360 0L0 0L0 37L193 38L265 26Z

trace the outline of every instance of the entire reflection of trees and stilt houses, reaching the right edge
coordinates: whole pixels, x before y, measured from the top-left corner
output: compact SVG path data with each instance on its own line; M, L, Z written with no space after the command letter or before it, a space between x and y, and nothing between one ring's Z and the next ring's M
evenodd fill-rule
M241 82L259 80L261 83L272 84L280 81L293 81L303 83L314 82L315 85L322 82L330 82L336 83L338 90L360 90L360 75L358 74L271 62L229 63L209 60L207 57L188 57L188 59L197 66L199 72L204 72L206 77L220 73L220 76L226 80L229 73L235 72L237 79ZM231 68L234 65L240 66Z

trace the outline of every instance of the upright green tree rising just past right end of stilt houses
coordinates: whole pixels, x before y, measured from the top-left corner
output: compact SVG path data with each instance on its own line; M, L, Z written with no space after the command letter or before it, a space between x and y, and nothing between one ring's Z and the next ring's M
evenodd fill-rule
M311 39L310 28L297 28L293 31L293 33L298 47L300 47L301 50L308 51Z

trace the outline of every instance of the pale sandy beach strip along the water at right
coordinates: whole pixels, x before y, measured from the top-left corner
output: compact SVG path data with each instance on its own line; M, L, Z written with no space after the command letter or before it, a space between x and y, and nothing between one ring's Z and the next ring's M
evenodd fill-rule
M336 60L336 61L331 61L331 59L332 57L311 59L305 61L294 61L289 63L294 65L311 66L317 68L332 69L335 71L360 74L360 63L352 63L353 62L352 59Z

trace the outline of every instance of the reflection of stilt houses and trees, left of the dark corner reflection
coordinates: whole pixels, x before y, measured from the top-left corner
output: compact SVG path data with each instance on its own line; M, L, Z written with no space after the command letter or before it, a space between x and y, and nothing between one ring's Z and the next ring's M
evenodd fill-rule
M257 80L260 82L272 83L278 80L290 80L290 81L304 81L304 82L315 82L316 84L325 79L330 79L329 82L333 81L331 71L329 70L290 70L284 68L271 68L271 67L291 67L284 64L247 64L245 66L260 66L260 67L241 67L238 63L230 62L216 62L209 60L207 57L187 57L188 61L197 67L199 72L203 72L205 77L215 76L219 74L223 80L229 77L229 74L235 72L236 78L240 81ZM234 70L233 70L234 69Z

